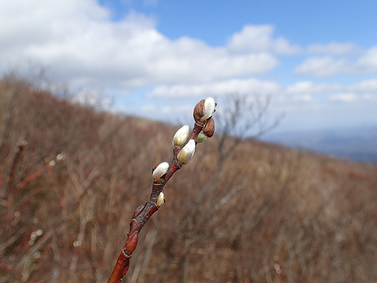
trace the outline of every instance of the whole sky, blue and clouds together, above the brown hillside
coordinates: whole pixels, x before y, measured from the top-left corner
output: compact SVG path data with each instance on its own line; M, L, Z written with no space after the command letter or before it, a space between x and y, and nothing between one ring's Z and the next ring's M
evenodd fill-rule
M377 125L376 14L376 1L5 0L0 71L42 66L170 122L237 92L271 96L279 131Z

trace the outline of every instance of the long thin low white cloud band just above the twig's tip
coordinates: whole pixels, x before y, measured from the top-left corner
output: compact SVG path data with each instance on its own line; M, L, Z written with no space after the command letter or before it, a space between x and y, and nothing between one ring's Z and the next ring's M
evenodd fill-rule
M276 104L283 104L287 109L290 109L290 104L298 101L310 103L311 107L316 107L318 101L353 102L357 100L357 97L364 97L364 100L375 98L377 80L364 80L353 85L299 81L283 86L275 81L255 78L232 79L202 84L158 85L148 92L147 97L187 99L208 95L221 96L231 92L271 95Z

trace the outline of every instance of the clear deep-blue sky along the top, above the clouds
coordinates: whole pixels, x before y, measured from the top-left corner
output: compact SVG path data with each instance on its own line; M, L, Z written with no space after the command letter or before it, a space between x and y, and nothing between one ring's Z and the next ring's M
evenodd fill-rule
M377 34L366 27L377 24L375 1L106 1L112 18L142 12L157 21L157 29L171 39L182 35L221 46L245 24L273 24L276 33L293 43L313 40L375 44Z

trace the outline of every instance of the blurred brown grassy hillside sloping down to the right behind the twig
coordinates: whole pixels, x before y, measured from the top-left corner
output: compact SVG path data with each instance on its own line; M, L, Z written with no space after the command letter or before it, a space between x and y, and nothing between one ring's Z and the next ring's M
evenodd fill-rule
M106 282L176 130L0 81L0 282ZM217 148L166 185L124 282L376 280L377 167L245 140L220 168Z

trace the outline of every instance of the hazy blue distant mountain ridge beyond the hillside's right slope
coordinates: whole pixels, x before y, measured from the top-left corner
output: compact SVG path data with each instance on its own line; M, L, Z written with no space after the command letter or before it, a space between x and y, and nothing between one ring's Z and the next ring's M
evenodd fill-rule
M261 140L357 162L377 163L377 126L272 132Z

